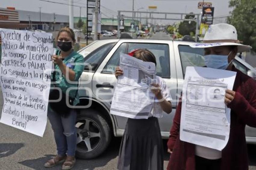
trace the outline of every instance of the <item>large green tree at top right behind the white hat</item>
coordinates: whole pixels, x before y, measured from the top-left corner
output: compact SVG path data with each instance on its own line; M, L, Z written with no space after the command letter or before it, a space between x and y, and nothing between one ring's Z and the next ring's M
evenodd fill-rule
M236 27L239 41L252 46L256 52L256 1L230 0L229 7L233 11L227 22Z

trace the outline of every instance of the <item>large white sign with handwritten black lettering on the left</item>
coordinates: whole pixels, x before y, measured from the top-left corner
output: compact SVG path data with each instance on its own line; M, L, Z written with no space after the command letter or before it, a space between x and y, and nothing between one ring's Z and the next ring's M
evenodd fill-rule
M52 34L0 29L1 123L43 136L52 69Z

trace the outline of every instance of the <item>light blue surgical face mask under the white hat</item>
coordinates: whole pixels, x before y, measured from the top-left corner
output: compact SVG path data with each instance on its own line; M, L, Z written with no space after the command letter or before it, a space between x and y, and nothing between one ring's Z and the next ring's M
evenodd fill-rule
M230 51L230 53L231 53L231 51ZM228 56L229 55L224 56L224 55L210 54L210 55L204 56L204 62L205 62L205 65L209 68L226 70L228 68L229 64L232 62L231 61L228 63Z

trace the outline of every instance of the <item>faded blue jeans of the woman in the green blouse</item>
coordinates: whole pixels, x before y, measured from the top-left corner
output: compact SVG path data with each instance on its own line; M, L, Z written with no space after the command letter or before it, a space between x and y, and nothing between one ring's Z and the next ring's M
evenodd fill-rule
M54 132L58 155L75 156L77 138L75 127L76 111L71 109L70 114L63 117L48 108L47 116Z

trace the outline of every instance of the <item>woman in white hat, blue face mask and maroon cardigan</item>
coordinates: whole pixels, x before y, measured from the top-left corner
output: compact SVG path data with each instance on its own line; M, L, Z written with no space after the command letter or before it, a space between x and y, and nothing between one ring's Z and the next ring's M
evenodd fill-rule
M231 109L229 140L221 151L181 141L180 100L167 143L171 153L167 170L248 170L245 126L256 127L256 82L236 69L232 61L238 52L251 47L239 44L236 28L229 24L211 25L203 43L190 46L204 48L206 67L236 72L233 90L226 90L223 99ZM216 98L218 90L214 93Z

